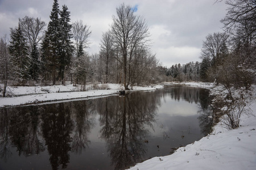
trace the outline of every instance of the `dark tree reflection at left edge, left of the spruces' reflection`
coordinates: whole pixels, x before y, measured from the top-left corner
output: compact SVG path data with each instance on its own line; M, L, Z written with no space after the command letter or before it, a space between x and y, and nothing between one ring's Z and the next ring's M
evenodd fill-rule
M43 143L39 139L38 108L13 108L12 114L7 114L7 109L10 108L2 109L4 113L1 114L1 158L11 154L7 150L9 142L16 147L18 155L30 156L44 151Z

